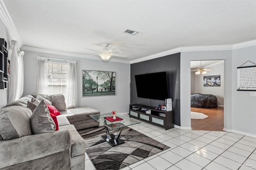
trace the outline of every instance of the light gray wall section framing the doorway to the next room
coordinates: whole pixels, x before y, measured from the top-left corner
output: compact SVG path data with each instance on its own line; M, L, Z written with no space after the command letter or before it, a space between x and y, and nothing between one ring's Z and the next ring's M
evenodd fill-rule
M224 127L232 129L232 50L194 51L180 54L180 124L183 129L191 129L190 119L190 61L224 60ZM188 83L189 82L189 83Z

